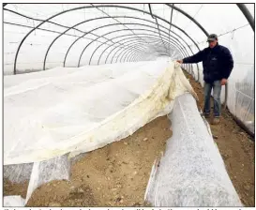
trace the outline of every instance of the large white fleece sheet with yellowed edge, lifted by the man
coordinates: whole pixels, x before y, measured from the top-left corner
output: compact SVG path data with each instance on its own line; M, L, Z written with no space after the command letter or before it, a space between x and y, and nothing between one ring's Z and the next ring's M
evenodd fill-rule
M15 77L4 78L4 165L98 149L171 113L174 98L196 98L179 65L166 60Z

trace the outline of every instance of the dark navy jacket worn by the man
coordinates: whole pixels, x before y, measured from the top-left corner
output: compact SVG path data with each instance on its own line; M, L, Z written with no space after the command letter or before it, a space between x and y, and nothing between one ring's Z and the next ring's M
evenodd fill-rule
M184 64L199 63L203 61L203 80L214 82L228 79L233 69L233 57L229 49L221 45L213 49L205 48L190 57L184 58Z

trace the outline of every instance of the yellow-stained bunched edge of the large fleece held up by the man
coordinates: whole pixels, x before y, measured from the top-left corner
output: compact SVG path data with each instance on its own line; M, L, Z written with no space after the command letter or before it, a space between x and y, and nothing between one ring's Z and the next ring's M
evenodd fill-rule
M54 136L49 132L49 135L39 142L41 144L36 148L31 148L29 153L23 152L17 155L16 150L5 151L5 164L42 161L67 153L70 153L69 157L74 157L98 149L108 143L128 137L158 116L171 113L176 97L189 92L197 99L179 64L168 62L164 67L166 69L158 76L157 81L124 109L113 113L83 132L62 139L52 147L43 146L53 142ZM37 125L32 126L36 127ZM65 131L68 129L68 127L65 128ZM48 128L41 130L47 134Z

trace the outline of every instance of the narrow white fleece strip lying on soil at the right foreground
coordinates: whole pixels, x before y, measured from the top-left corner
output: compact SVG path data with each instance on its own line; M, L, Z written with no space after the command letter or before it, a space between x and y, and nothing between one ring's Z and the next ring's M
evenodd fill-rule
M175 98L168 117L173 136L153 165L144 200L155 207L243 206L194 98Z

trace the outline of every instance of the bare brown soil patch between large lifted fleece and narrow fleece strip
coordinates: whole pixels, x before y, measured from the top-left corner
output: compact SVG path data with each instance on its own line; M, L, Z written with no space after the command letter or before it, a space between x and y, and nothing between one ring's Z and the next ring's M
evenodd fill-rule
M90 152L71 168L70 181L38 188L27 206L140 206L153 162L172 136L166 116L123 141Z

